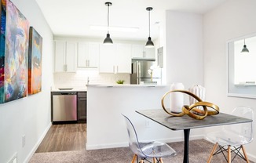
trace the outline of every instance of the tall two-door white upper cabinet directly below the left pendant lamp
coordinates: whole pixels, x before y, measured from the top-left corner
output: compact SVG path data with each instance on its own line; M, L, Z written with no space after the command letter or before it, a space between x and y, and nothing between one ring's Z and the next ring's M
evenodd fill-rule
M131 45L101 45L100 73L131 73Z

